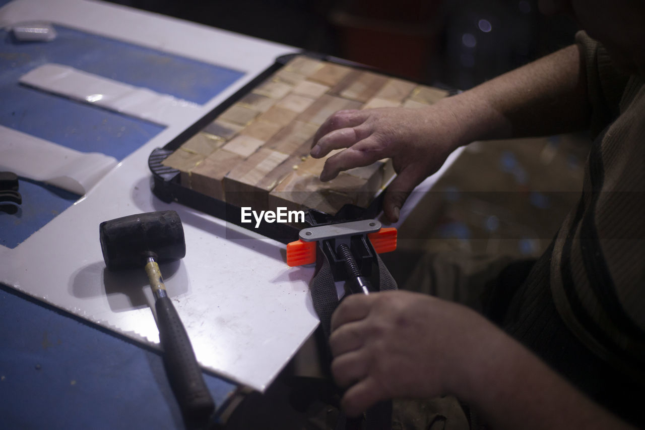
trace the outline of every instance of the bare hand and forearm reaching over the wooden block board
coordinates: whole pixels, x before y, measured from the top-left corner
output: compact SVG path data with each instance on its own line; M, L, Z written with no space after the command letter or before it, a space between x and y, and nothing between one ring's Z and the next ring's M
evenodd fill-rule
M579 51L572 45L426 108L341 110L313 137L312 156L347 148L326 161L322 181L392 158L398 176L383 209L396 221L412 189L461 145L588 127L591 110L580 72Z

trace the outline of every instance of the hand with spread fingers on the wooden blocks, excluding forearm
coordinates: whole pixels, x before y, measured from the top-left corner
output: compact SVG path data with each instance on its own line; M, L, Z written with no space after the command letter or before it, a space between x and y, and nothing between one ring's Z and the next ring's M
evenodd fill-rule
M412 189L439 170L450 152L466 143L461 139L461 125L448 107L341 110L313 137L312 156L321 158L331 150L347 148L326 161L321 181L335 178L341 170L392 158L398 176L386 192L384 211L390 221L397 221Z

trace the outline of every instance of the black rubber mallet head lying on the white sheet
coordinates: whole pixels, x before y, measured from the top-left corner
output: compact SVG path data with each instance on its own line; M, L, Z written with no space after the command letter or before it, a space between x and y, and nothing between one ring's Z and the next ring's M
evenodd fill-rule
M150 256L163 263L186 255L184 229L174 210L104 221L99 236L103 260L111 271L143 267Z

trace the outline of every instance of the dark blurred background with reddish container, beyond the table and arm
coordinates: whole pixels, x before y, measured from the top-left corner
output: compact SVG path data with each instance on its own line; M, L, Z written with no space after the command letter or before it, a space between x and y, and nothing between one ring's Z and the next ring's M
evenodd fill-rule
M536 0L115 0L330 54L422 83L471 88L573 43Z

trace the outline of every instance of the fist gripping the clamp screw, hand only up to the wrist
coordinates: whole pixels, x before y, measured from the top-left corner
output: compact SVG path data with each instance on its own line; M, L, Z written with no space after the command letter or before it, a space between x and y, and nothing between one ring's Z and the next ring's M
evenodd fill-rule
M495 347L486 344L494 332L474 311L424 294L349 296L332 316L330 336L333 377L350 387L344 410L358 415L388 398L453 394L453 376L477 345Z

